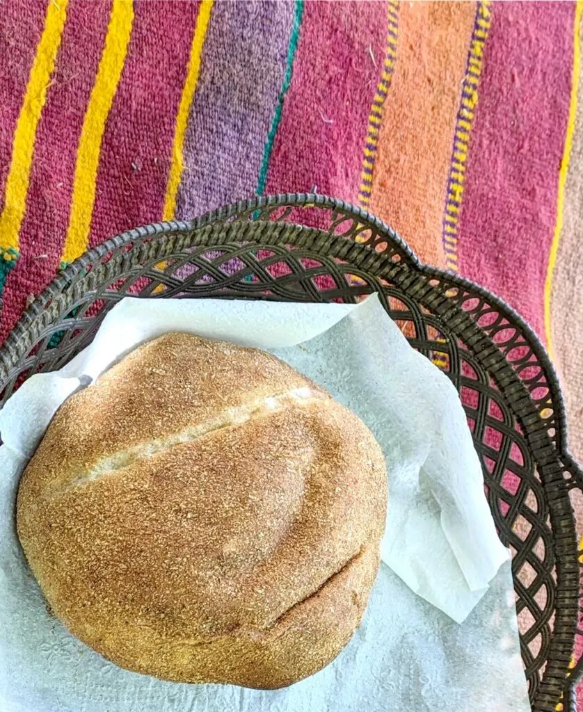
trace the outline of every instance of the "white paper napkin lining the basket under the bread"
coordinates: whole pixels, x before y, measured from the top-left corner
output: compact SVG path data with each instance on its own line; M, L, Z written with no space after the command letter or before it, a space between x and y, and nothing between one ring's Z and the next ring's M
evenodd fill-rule
M172 330L271 350L329 389L376 435L389 473L381 545L386 566L365 622L331 666L285 691L155 681L103 661L58 622L47 624L11 523L0 530L0 625L9 629L0 641L0 690L10 690L12 705L6 709L299 712L360 710L366 698L366 708L379 712L411 708L413 700L421 710L493 710L498 702L500 709L527 710L510 566L496 575L508 555L485 501L458 394L411 349L376 297L357 306L123 300L90 347L61 372L28 379L0 412L0 495L9 502L7 513L19 471L63 399L138 343ZM451 620L466 617L462 626ZM482 667L487 683L480 681ZM498 673L492 686L493 669ZM90 680L98 692L82 691ZM56 691L56 706L31 706L37 695L45 700L47 689ZM464 706L468 695L480 707ZM453 698L459 702L450 705Z

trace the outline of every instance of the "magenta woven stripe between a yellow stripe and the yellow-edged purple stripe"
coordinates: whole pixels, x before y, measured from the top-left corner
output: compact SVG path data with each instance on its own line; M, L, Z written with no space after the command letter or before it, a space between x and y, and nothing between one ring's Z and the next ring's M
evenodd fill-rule
M135 3L128 57L103 135L89 241L160 219L198 3Z

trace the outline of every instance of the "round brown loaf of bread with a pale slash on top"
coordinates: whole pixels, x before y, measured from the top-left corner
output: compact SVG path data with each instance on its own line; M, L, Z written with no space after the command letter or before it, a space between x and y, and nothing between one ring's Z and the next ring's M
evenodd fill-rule
M171 333L58 410L17 525L53 612L105 658L277 688L358 627L385 511L354 414L272 355Z

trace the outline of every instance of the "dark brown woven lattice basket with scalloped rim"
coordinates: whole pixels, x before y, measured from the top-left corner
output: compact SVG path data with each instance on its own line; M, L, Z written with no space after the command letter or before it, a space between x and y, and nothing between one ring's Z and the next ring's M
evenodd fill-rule
M487 500L512 549L532 709L574 709L583 629L572 501L583 476L567 451L549 357L502 300L423 266L367 211L287 194L113 237L58 273L12 330L0 349L0 403L88 345L125 295L354 303L373 292L460 392Z

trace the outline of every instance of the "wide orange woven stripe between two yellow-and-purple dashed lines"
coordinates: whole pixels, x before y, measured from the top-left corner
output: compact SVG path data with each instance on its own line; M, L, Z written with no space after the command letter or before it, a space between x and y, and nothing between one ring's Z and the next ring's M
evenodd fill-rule
M371 210L423 261L442 267L443 189L475 9L475 2L401 6L398 61L371 191Z

